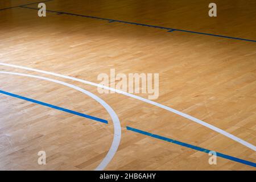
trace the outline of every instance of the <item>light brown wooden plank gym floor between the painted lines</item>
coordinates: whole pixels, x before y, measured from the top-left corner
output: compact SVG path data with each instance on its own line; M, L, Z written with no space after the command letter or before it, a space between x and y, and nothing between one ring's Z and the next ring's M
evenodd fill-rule
M0 62L99 83L97 76L159 73L159 104L182 111L256 145L256 42L172 31L85 16L19 7L36 1L0 2ZM63 1L47 10L256 40L255 1L208 2ZM36 8L37 4L27 5ZM126 130L126 126L207 148L250 162L256 152L168 110L124 96L99 94L97 87L53 75L0 65L1 72L60 80L88 90L113 108L121 123L118 150L106 170L255 170L174 143ZM94 170L112 144L114 125L93 98L68 86L0 73L0 90L80 113L95 122L0 93L1 170ZM147 98L147 94L137 94ZM38 164L46 151L47 164Z

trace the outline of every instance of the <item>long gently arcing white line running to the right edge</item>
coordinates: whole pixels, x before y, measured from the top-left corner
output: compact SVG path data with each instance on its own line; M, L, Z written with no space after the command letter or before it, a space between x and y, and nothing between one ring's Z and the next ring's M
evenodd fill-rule
M117 89L114 89L114 88L110 88L108 86L104 86L104 85L100 85L100 84L96 84L94 82L90 82L90 81L86 81L86 80L81 80L79 78L74 78L74 77L71 77L71 76L65 76L65 75L60 75L58 73L52 73L52 72L47 72L47 71L43 71L43 70L40 70L40 69L34 69L34 68L28 68L28 67L22 67L22 66L19 66L19 65L14 65L14 64L6 64L6 63L0 63L0 65L5 65L6 67L13 67L13 68L20 68L20 69L26 69L28 71L34 71L34 72L39 72L39 73L44 73L44 74L47 74L47 75L53 75L53 76L57 76L57 77L61 77L61 78L67 78L69 80L74 80L74 81L79 81L79 82L83 82L84 84L89 84L89 85L93 85L93 86L97 86L97 87L100 87L100 88L104 88L104 89L107 89L107 90L112 90L116 93L119 93L119 94L123 94L125 96L128 96L128 97L133 97L137 100L140 100L140 101L143 101L143 102L146 102L148 104L151 104L151 105L155 105L157 107L160 107L162 109L165 109L165 110L168 110L168 111L171 111L172 113L175 113L177 115L180 115L181 117L184 117L184 118L187 118L187 119L190 119L191 121L194 121L196 123L199 123L200 125L203 125L205 127L208 127L209 129L212 129L214 131L216 131L217 133L220 133L222 135L225 135L226 137L238 142L238 143L241 143L243 146L246 146L248 148L251 148L252 150L256 151L256 147L249 143L249 142L246 142L245 140L242 140L241 138L238 138L224 130L221 130L219 129L218 127L216 126L213 126L213 125L210 125L209 123L207 122L204 122L204 121L201 121L200 119L197 119L195 117L192 117L191 115L188 115L188 114L185 114L185 113L182 113L181 111L178 111L178 110L175 110L175 109L172 109L171 107L168 107L168 106L165 106L165 105L162 105L162 104L159 104L158 102L154 102L154 101L151 101L151 100L147 100L146 98L143 98L143 97L139 97L139 96L135 96L134 94L130 94L130 93L127 93L127 92L123 92L122 90L117 90Z

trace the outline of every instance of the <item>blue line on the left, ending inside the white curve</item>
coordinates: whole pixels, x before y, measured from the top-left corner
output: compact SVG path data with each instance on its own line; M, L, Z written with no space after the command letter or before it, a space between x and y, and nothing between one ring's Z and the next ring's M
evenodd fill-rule
M34 99L32 99L32 98L27 98L27 97L18 96L18 95L16 95L16 94L13 94L13 93L10 93L10 92L5 92L5 91L3 91L3 90L0 90L0 93L6 94L7 96L11 96L11 97L15 97L15 98L20 98L20 99L25 100L25 101L33 102L33 103L35 103L35 104L39 104L39 105L51 107L52 109L61 110L61 111L64 111L64 112L66 112L66 113L79 115L79 116L84 117L84 118L88 118L88 119L92 119L92 120L94 120L94 121L98 121L98 122L102 122L102 123L108 124L108 121L106 121L105 119L96 118L96 117L93 117L93 116L91 116L91 115L82 114L82 113L79 113L79 112L77 112L77 111L65 109L65 108L63 108L63 107L59 107L59 106L47 104L47 103L41 102L41 101L36 101L36 100L34 100Z

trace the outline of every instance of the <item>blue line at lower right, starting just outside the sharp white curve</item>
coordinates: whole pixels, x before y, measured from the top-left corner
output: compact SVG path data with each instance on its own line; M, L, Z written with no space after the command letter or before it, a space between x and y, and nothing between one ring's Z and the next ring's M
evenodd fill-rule
M192 148L193 150L205 152L207 154L209 154L209 152L210 152L210 150L205 149L205 148L193 146L192 144L179 142L178 140L174 140L174 139L162 137L160 135L155 135L155 134L152 134L152 133L148 133L146 131L134 129L133 127L126 126L126 129L130 130L130 131L134 131L135 133L139 133L139 134L142 134L142 135L147 135L147 136L152 137L152 138L164 140L164 141L170 142L170 143L175 143L175 144L178 144L178 145L183 146L183 147ZM217 154L217 156L219 156L221 158L224 158L224 159L233 160L234 162L238 162L238 163L246 164L248 166L256 167L256 163L253 163L253 162L250 162L250 161L247 161L247 160L235 158L235 157L230 156L230 155L221 154L219 152L216 152L216 154Z

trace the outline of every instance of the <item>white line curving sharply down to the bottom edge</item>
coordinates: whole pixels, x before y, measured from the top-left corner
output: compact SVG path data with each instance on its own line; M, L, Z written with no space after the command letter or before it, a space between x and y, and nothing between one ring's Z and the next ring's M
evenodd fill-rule
M52 78L46 78L46 77L35 76L35 75L27 75L27 74L23 74L23 73L14 73L14 72L2 72L2 71L0 71L0 73L10 74L10 75L18 75L18 76L26 76L26 77L32 77L32 78L39 78L39 79L42 79L42 80L52 81L52 82L55 82L57 84L65 85L65 86L68 86L70 88L79 90L80 92L88 95L89 97L92 97L94 100L99 102L103 107L105 107L105 109L108 111L110 117L112 118L112 121L113 121L113 124L114 124L114 138L113 138L113 142L112 142L112 145L109 149L108 154L105 156L105 158L101 161L101 163L98 165L98 167L95 170L96 171L101 171L109 164L109 162L114 157L115 152L117 152L117 149L118 149L118 146L119 146L119 143L120 143L120 140L121 140L121 124L119 122L119 118L118 118L117 114L115 113L115 111L104 100L102 100L100 97L98 97L98 96L94 95L93 93L90 93L87 90L84 90L84 89L82 89L78 86L68 84L68 83L63 82L63 81L54 80Z

